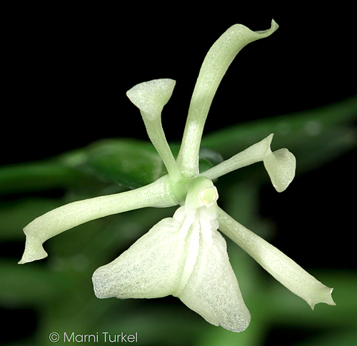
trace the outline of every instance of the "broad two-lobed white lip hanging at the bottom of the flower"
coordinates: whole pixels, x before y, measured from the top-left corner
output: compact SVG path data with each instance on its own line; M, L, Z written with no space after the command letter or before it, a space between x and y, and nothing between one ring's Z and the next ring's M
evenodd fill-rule
M199 179L195 190L208 179ZM209 203L214 187L201 189ZM213 191L213 194L212 194ZM197 196L196 196L197 197ZM178 208L173 218L157 223L113 262L93 275L96 297L152 298L174 295L213 325L241 332L250 313L243 302L226 251L226 241L211 223L206 206ZM216 227L213 227L216 225Z

